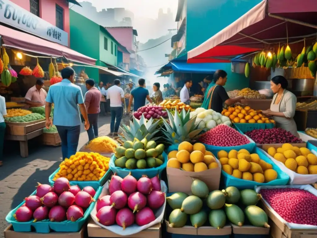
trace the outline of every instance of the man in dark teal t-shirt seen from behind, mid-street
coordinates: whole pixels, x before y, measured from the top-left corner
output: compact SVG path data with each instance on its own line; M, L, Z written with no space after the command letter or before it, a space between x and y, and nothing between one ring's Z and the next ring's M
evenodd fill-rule
M129 99L128 112L131 111L131 104L134 98L133 111L137 111L140 107L145 105L145 100L147 99L150 103L152 103L152 99L149 96L149 90L145 88L145 79L139 79L139 87L133 89L131 91L131 96Z

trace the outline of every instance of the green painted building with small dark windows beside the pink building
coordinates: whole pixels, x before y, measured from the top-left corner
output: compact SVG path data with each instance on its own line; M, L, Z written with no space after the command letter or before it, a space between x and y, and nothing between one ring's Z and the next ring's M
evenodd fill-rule
M97 59L96 65L107 67L105 63L108 63L118 66L118 46L121 45L104 27L73 10L69 10L69 19L72 50ZM95 82L100 81L99 69L74 66L76 72L81 68L85 68L87 75Z

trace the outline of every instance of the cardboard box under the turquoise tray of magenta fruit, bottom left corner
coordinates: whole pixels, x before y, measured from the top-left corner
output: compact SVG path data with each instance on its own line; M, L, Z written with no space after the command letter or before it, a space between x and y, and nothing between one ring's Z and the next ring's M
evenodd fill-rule
M16 232L12 225L4 230L4 238L84 238L86 237L86 223L82 226L79 232L51 232L51 233L36 233L36 232Z

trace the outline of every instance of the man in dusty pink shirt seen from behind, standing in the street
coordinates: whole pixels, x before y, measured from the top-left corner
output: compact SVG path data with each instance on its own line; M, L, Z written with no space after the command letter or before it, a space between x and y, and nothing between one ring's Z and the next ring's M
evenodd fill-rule
M101 93L94 85L95 81L93 79L86 80L86 88L88 91L85 93L85 105L90 124L87 130L89 141L98 137L98 116L100 113Z

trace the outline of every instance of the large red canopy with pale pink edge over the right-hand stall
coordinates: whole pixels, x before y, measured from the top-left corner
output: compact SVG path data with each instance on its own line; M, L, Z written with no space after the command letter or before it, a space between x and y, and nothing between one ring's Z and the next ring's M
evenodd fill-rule
M279 43L316 39L316 0L263 0L235 22L190 50L188 63L210 63ZM219 61L220 62L220 61Z

